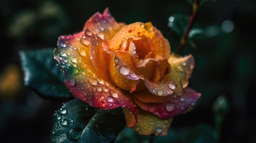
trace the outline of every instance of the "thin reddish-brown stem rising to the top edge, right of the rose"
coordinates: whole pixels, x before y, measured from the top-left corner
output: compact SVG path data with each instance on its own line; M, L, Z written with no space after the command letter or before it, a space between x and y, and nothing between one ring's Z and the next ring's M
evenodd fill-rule
M186 40L189 36L189 31L191 30L194 22L195 22L195 18L197 16L197 12L198 12L198 8L199 8L199 3L201 0L195 0L194 4L193 4L193 13L192 15L189 17L189 25L186 28L186 31L184 33L184 35L182 36L181 40L180 40L180 46L177 50L177 54L180 54L183 50L183 47L186 43Z

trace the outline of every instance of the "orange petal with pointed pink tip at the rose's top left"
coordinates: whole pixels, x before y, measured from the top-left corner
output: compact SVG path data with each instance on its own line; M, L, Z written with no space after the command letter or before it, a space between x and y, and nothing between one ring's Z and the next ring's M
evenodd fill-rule
M106 8L103 14L95 13L83 27L85 36L91 41L90 58L92 59L92 64L97 73L107 81L111 80L109 73L110 56L106 51L103 51L101 43L108 44L123 26L123 23L115 21L115 18L112 17L108 8Z

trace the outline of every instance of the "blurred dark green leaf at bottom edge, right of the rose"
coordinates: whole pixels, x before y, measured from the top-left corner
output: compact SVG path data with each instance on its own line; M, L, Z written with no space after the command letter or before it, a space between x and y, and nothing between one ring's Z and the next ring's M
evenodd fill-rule
M217 143L217 139L211 126L199 124L187 132L182 143Z

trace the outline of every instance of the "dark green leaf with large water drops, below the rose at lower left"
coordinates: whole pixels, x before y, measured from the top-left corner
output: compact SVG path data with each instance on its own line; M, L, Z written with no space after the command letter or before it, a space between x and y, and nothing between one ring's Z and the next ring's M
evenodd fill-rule
M100 110L74 99L54 114L50 143L113 143L125 126L121 108Z

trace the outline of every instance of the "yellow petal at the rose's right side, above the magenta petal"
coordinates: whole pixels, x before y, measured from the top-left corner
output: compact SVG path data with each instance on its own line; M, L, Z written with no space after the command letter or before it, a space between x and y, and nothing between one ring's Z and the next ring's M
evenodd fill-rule
M171 64L171 72L164 75L160 80L174 80L177 83L177 88L174 92L177 95L181 95L183 88L189 84L189 77L195 66L194 58L192 55L180 57L180 55L172 53L168 62Z

